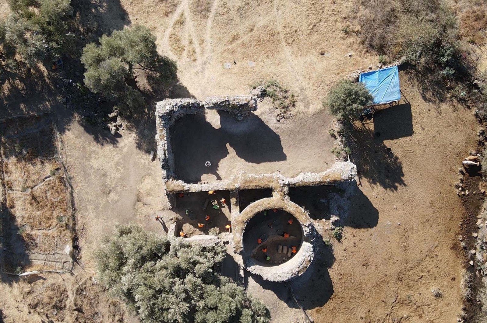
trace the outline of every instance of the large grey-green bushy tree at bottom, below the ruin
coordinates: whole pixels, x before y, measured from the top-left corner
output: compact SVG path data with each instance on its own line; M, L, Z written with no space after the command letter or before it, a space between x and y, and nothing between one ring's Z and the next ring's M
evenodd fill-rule
M133 307L141 322L269 322L269 310L214 272L222 244L168 240L118 226L98 251L102 284Z

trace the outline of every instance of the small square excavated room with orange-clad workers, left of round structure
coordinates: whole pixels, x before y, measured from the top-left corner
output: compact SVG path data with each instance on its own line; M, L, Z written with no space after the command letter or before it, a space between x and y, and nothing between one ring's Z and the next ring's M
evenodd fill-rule
M174 212L182 217L181 223L187 236L207 234L211 228L218 228L221 232L228 232L225 225L230 223L231 209L228 191L185 193L183 197L175 194ZM225 203L223 203L223 199ZM213 205L213 203L215 205ZM205 207L206 205L206 207ZM218 208L215 208L218 207ZM186 214L187 213L187 214ZM206 215L210 218L205 220ZM198 227L198 223L204 225Z

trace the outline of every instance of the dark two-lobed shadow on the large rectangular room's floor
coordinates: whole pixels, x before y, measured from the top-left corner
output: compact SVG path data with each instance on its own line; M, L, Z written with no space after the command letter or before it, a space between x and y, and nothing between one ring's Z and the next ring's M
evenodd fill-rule
M203 113L185 115L176 120L169 132L177 178L188 182L201 180L203 174L217 173L218 165L229 153L229 144L246 162L276 162L286 159L281 138L258 116L251 114L241 121L218 111L219 129L206 121ZM210 167L205 162L211 162ZM238 169L236 169L238 172Z

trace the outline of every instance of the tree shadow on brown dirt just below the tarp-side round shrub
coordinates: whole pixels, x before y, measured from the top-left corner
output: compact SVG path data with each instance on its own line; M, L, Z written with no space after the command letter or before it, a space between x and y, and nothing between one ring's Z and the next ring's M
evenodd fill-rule
M369 183L391 191L406 186L401 161L383 143L381 137L377 137L364 125L351 124L344 126L343 137L351 150L350 158L357 165L359 178L364 177Z

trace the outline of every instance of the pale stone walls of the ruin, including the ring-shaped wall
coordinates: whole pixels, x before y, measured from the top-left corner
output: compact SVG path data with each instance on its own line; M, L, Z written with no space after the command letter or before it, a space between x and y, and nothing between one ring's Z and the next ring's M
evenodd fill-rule
M346 161L336 162L330 169L321 173L304 172L294 178L284 177L280 173L248 174L241 172L229 180L220 180L214 183L187 183L177 179L174 172L174 156L171 150L169 132L174 122L184 115L203 112L204 109L226 111L237 120L241 120L246 115L257 110L257 102L262 100L262 97L255 92L256 90L251 92L252 95L212 96L204 101L196 99L166 99L156 105L157 155L161 164L166 194L171 196L174 193L183 192L230 191L233 238L228 239L234 245L237 253L242 252L242 236L246 223L253 215L262 211L262 208L278 207L298 216L305 236L314 240L315 230L309 215L305 210L289 200L288 188L290 186L333 185L353 180L356 177L356 165ZM238 207L239 190L259 188L272 188L273 197L256 201L240 213ZM171 200L170 197L169 200ZM193 237L193 240L198 243L202 239L203 237L199 236ZM209 241L210 238L206 238L206 236L205 239L208 240L208 243L214 240L214 238L211 238L213 240ZM314 249L314 243L303 242L299 254L293 258L293 261L288 261L274 268L258 266L249 259L245 259L245 264L242 265L251 272L261 275L266 280L287 281L300 275L309 266L314 256Z

